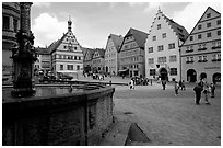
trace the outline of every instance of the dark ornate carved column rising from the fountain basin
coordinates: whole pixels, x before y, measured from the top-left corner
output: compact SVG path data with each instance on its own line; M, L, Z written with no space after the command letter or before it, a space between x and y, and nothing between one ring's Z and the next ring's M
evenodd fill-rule
M35 94L34 61L37 55L34 48L34 35L31 31L32 2L20 2L21 30L16 33L16 45L12 48L13 90L12 96L32 96Z

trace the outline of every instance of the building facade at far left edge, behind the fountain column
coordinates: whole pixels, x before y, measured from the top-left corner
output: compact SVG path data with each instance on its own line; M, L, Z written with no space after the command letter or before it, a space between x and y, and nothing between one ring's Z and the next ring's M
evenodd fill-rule
M16 44L20 30L20 2L2 2L2 75L11 75L11 48Z

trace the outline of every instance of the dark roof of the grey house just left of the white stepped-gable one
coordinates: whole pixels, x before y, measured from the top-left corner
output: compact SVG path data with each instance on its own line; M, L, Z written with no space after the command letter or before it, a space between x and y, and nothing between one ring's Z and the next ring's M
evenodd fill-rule
M130 27L130 30L128 31L128 33L126 34L126 36L124 37L124 39L130 35L133 35L138 46L142 49L144 49L144 44L145 44L145 41L148 38L148 33L145 32L142 32L142 31L139 31L139 30L136 30L136 29L132 29ZM124 45L124 39L122 39L122 43L121 43L121 46L120 46L120 49L119 52L121 50L121 47Z

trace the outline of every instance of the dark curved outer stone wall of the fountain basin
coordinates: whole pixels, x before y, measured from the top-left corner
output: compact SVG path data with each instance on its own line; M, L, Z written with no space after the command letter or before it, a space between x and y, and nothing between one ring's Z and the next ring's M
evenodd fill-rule
M3 146L97 145L113 122L110 87L50 98L3 96Z

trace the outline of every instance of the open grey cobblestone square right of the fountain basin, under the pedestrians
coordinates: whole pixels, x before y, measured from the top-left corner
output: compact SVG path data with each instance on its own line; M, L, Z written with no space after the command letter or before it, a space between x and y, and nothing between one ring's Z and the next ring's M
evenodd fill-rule
M187 87L187 86L186 86ZM132 145L153 146L220 146L221 89L210 99L211 105L195 104L192 84L175 96L174 86L162 90L153 86L116 87L114 115L120 121L137 123L151 143ZM131 114L125 114L125 113Z

